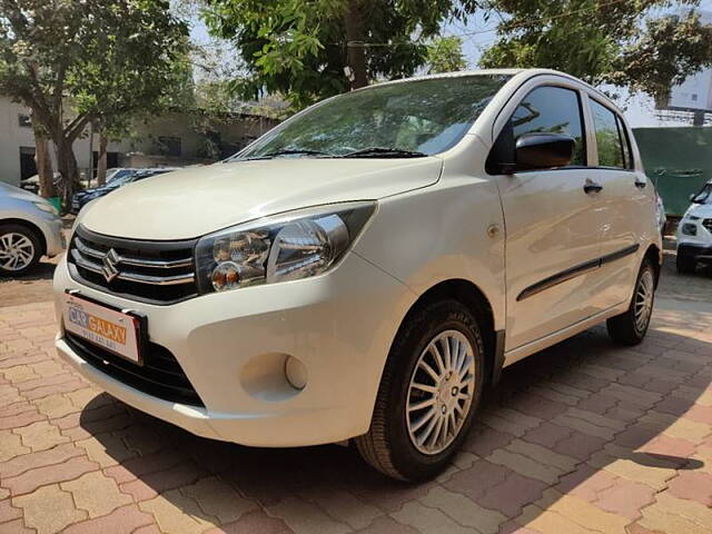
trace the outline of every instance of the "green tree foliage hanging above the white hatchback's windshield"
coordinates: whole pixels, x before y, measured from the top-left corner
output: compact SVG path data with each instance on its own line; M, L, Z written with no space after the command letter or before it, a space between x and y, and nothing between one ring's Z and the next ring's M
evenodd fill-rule
M425 42L441 23L465 19L476 8L475 0L205 2L210 30L233 40L246 62L247 76L233 89L246 99L279 92L296 107L362 87L368 79L413 75L426 62Z

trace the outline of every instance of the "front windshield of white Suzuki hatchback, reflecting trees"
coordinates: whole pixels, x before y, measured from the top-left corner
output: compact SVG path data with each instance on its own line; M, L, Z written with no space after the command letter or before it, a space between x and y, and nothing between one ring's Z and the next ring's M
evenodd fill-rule
M459 141L510 76L472 75L385 83L342 95L275 128L236 159L343 157L384 149L432 156ZM373 150L373 149L377 150Z

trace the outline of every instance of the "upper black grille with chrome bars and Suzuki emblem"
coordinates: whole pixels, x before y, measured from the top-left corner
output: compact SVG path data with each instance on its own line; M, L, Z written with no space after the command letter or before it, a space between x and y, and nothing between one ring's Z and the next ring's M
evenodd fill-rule
M189 241L141 241L102 236L78 227L69 246L72 278L112 295L151 304L195 297Z

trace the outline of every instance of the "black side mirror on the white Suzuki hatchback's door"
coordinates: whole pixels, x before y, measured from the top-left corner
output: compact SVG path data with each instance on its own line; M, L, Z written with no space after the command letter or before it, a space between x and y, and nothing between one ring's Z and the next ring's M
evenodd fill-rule
M561 134L525 134L516 140L517 170L565 167L571 164L576 141Z

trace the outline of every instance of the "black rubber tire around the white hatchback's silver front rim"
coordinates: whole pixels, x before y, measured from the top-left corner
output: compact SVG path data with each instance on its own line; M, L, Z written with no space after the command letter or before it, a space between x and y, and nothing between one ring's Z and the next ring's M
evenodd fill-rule
M432 478L444 469L467 435L484 385L485 353L475 317L456 300L448 299L425 306L406 320L407 324L400 327L384 368L370 428L367 434L355 438L355 445L363 458L385 475L416 482ZM437 454L424 454L411 441L407 427L408 387L421 354L433 339L447 330L456 330L464 335L472 347L475 366L474 390L469 408L454 441ZM437 404L433 408L436 406Z

